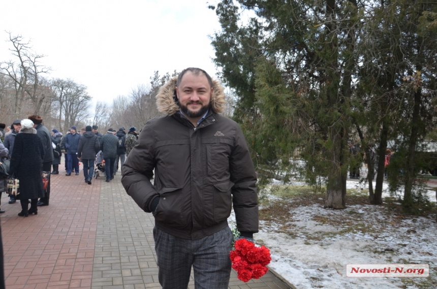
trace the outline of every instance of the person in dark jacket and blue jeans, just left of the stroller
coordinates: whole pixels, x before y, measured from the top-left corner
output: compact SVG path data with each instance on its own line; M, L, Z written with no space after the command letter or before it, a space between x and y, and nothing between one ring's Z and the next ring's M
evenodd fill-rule
M77 158L82 158L83 176L85 182L91 184L92 175L94 172L94 162L96 160L96 153L100 150L99 138L91 131L91 126L85 127L85 133L79 139L77 148Z

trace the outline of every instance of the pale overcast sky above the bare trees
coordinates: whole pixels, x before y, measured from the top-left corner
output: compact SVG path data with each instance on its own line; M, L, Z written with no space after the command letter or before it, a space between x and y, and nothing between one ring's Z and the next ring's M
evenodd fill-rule
M94 102L108 103L148 83L155 70L200 67L213 76L208 35L220 24L207 6L208 0L5 0L0 61L13 59L5 31L21 35L46 55L51 78L71 78Z

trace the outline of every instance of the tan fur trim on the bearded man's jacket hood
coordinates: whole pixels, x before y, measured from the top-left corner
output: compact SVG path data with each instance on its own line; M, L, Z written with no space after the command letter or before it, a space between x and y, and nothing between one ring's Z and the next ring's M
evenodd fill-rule
M176 82L177 77L171 78L166 84L164 84L158 92L157 108L159 112L173 115L179 111L179 103L176 98ZM211 108L215 113L221 113L226 109L226 98L223 86L216 79L212 79L212 97Z

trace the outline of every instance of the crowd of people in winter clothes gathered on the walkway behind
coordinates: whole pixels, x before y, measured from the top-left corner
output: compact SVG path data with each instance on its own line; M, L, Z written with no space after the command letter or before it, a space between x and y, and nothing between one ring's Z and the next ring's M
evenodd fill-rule
M80 133L73 125L63 134L57 129L50 132L42 122L40 116L30 115L26 119L14 120L11 126L0 123L0 158L10 159L9 176L0 179L0 194L7 191L9 178L19 180L20 194L9 195L9 204L20 200L22 210L19 216L38 214L38 206L49 205L50 175L59 174L63 154L65 175L79 175L79 163L82 163L83 176L88 184L94 175L96 157L101 154L106 181L110 182L118 170L119 160L121 170L138 139L134 126L128 133L121 127L118 131L108 129L102 135L97 125L82 127ZM0 209L0 213L4 212Z

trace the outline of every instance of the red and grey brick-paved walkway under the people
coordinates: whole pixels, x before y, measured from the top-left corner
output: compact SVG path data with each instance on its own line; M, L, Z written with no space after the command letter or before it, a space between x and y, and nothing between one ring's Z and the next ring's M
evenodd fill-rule
M63 167L63 165L59 166ZM50 205L19 217L19 202L2 195L0 215L7 289L161 288L155 263L153 217L124 191L119 174L92 185L64 170L51 179ZM194 288L191 280L189 288ZM289 288L271 272L229 288Z

